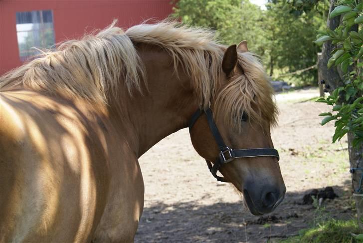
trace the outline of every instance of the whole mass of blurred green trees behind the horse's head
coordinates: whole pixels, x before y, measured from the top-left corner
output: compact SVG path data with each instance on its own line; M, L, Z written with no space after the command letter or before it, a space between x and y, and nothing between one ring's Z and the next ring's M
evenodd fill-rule
M173 15L216 30L224 44L246 39L272 79L304 86L316 85L316 68L280 76L317 63L321 47L313 41L328 12L329 0L269 0L264 10L249 0L179 0Z

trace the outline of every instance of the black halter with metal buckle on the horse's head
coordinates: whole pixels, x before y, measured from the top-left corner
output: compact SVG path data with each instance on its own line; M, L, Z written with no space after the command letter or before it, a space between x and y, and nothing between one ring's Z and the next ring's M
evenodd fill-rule
M191 119L189 121L189 132L193 127L194 123L196 122L196 120L199 118L199 116L202 113L205 113L205 115L207 116L210 131L212 132L214 139L219 147L219 158L214 161L214 165L212 165L210 161L205 160L207 162L209 171L217 179L217 181L228 182L224 177L217 176L217 171L223 164L231 162L235 158L271 156L277 158L277 160L280 159L279 152L273 148L258 148L258 149L229 148L223 142L222 136L220 135L217 125L213 120L213 114L210 107L208 107L206 110L198 109L197 111L195 111L195 113L191 116Z

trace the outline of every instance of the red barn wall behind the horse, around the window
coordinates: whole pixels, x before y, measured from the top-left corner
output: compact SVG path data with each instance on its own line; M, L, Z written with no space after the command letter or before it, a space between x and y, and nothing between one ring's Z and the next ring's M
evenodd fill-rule
M171 0L0 0L0 75L20 66L16 12L53 10L55 42L104 28L118 19L127 28L172 12Z

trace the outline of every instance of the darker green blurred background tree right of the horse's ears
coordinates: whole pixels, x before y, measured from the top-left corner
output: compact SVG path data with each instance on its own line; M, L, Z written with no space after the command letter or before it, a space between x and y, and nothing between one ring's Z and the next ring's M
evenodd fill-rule
M325 0L311 5L312 0L270 0L267 4L266 26L269 30L268 65L270 75L278 68L284 72L304 69L316 64L320 47L314 44L316 30L324 26ZM297 76L299 84L315 84L316 69Z

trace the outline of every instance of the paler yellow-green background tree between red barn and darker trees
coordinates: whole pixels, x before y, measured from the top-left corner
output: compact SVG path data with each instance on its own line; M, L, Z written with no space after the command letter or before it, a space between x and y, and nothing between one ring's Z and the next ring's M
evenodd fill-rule
M174 8L174 17L190 25L216 30L224 44L238 44L247 39L249 47L260 48L262 10L255 4L239 0L179 0Z

